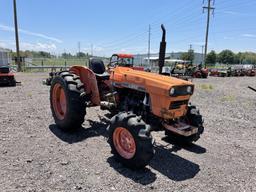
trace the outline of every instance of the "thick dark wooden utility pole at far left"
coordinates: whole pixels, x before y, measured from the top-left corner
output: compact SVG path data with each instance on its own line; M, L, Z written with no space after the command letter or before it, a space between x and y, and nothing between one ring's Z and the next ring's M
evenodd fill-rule
M16 64L18 65L18 72L20 72L21 61L20 61L19 29L18 29L16 0L13 0L13 12L14 12L14 25L15 25L16 54L17 54Z

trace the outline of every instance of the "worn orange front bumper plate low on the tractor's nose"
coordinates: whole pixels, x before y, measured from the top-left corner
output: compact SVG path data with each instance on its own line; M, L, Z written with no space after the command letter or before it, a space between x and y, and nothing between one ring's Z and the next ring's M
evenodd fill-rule
M185 137L189 137L198 132L197 127L193 127L193 126L185 124L185 123L176 123L174 125L168 125L166 123L163 123L163 126L167 130L172 131L175 134L185 136Z

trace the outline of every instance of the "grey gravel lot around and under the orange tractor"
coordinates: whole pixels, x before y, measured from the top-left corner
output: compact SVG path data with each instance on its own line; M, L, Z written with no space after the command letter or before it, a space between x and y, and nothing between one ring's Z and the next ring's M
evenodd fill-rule
M155 157L131 171L113 159L98 108L76 133L54 125L45 77L0 88L0 191L256 191L256 78L194 80L202 138L185 147L153 133Z

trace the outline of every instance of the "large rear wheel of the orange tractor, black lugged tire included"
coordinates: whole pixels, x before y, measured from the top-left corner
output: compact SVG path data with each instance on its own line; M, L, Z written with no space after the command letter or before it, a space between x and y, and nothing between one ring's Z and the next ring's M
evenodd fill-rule
M70 72L60 72L51 82L50 102L55 123L65 131L80 128L86 114L86 104L81 95L84 85Z

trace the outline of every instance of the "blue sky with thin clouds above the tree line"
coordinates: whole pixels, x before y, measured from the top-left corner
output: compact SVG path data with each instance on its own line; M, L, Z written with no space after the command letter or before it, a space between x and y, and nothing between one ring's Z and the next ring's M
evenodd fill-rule
M205 0L206 1L206 0ZM81 51L109 56L158 52L160 24L167 29L167 51L201 52L206 13L202 0L17 0L21 49L54 54ZM206 2L205 2L206 4ZM256 1L215 0L209 49L256 52ZM0 0L0 47L14 49L12 0Z

